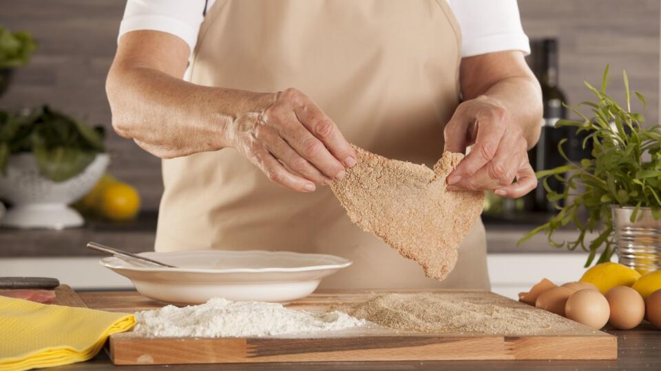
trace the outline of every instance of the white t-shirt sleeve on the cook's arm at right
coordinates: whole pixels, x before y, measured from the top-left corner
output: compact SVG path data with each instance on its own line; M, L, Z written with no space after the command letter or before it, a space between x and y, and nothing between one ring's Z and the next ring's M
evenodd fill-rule
M504 50L530 54L516 0L448 0L461 27L461 56Z

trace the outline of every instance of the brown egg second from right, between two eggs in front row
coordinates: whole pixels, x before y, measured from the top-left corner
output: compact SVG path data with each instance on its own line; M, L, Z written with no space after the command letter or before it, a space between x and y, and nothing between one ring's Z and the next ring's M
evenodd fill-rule
M627 286L615 286L606 293L611 308L608 323L620 330L629 330L642 322L645 316L645 301L638 291Z

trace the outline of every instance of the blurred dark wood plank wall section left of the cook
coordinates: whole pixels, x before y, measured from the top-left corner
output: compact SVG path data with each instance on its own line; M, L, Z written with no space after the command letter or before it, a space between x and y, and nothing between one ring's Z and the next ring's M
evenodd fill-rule
M160 160L112 131L105 96L124 5L119 0L0 0L0 24L30 30L39 41L30 65L14 76L0 106L45 102L86 122L105 124L113 156L110 171L138 188L145 208L156 209L162 193Z

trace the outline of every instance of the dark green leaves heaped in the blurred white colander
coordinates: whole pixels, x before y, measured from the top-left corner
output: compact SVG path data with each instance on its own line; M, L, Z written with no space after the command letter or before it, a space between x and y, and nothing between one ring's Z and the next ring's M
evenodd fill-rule
M105 152L103 136L103 127L92 128L48 106L30 115L0 111L0 174L12 153L32 152L43 176L65 181Z

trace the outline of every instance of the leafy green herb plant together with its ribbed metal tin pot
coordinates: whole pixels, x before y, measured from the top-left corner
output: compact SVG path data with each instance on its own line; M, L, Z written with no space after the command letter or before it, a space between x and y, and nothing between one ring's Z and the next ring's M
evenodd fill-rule
M626 72L623 79L623 104L606 93L606 67L600 89L585 82L596 99L567 106L580 119L560 120L556 126L573 126L587 134L583 148L591 144L591 154L570 161L563 151L566 139L560 142L558 151L567 164L537 173L558 213L519 243L544 232L554 247L588 251L585 267L597 256L596 262L607 262L617 252L620 263L644 273L661 269L661 125L645 124L640 113L631 111ZM647 109L644 97L633 93ZM581 112L582 108L590 113ZM564 184L563 192L549 188L550 177ZM567 225L578 229L576 240L554 240L554 232Z

